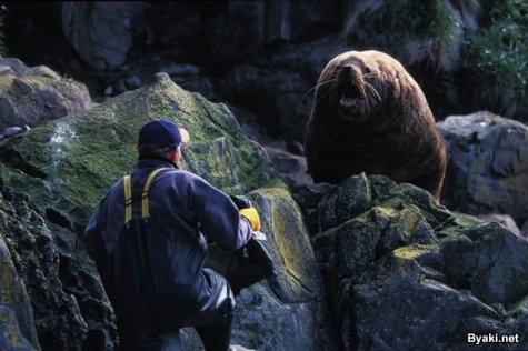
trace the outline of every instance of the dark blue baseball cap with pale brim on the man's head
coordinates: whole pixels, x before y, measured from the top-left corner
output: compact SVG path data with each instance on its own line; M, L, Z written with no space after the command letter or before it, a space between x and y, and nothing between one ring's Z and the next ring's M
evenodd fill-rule
M159 148L178 148L188 141L189 132L166 118L145 123L138 136L138 147L151 144Z

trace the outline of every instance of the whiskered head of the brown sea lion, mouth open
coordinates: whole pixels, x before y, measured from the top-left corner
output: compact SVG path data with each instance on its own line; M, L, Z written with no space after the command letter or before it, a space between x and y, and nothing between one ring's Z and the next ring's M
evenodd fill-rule
M319 78L316 101L328 99L330 108L343 120L361 122L373 118L388 91L398 84L391 74L393 59L387 58L377 51L349 51L333 58Z

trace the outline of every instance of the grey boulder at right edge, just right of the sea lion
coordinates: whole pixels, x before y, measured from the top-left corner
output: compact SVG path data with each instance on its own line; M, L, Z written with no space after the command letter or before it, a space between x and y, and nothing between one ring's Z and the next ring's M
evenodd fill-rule
M469 213L528 220L528 127L490 112L451 116L438 123L448 164L442 202Z

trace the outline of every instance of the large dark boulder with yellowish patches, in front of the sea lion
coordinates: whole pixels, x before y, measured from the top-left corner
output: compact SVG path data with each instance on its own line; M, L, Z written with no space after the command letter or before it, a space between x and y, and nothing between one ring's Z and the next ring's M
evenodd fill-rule
M296 197L346 350L467 350L470 333L518 335L484 349L528 348L525 238L380 176Z

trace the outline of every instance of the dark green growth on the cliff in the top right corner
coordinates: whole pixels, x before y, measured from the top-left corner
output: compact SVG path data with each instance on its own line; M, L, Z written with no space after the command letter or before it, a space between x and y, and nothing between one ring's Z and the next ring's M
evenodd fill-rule
M470 72L472 99L479 106L512 116L527 108L528 3L482 1L482 28L466 40L462 67Z

